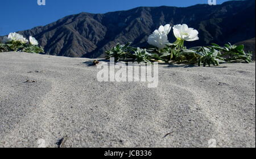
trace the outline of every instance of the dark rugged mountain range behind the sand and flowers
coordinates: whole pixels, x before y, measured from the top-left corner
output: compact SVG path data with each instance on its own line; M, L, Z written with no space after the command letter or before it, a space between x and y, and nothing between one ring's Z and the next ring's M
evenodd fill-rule
M186 42L188 47L210 42L234 44L255 37L255 0L184 8L138 7L106 14L82 12L19 33L34 36L47 54L98 58L104 57L105 50L117 42L133 42L133 46L146 47L147 37L159 25L167 23L185 23L199 31L200 40ZM175 41L173 33L169 41Z

